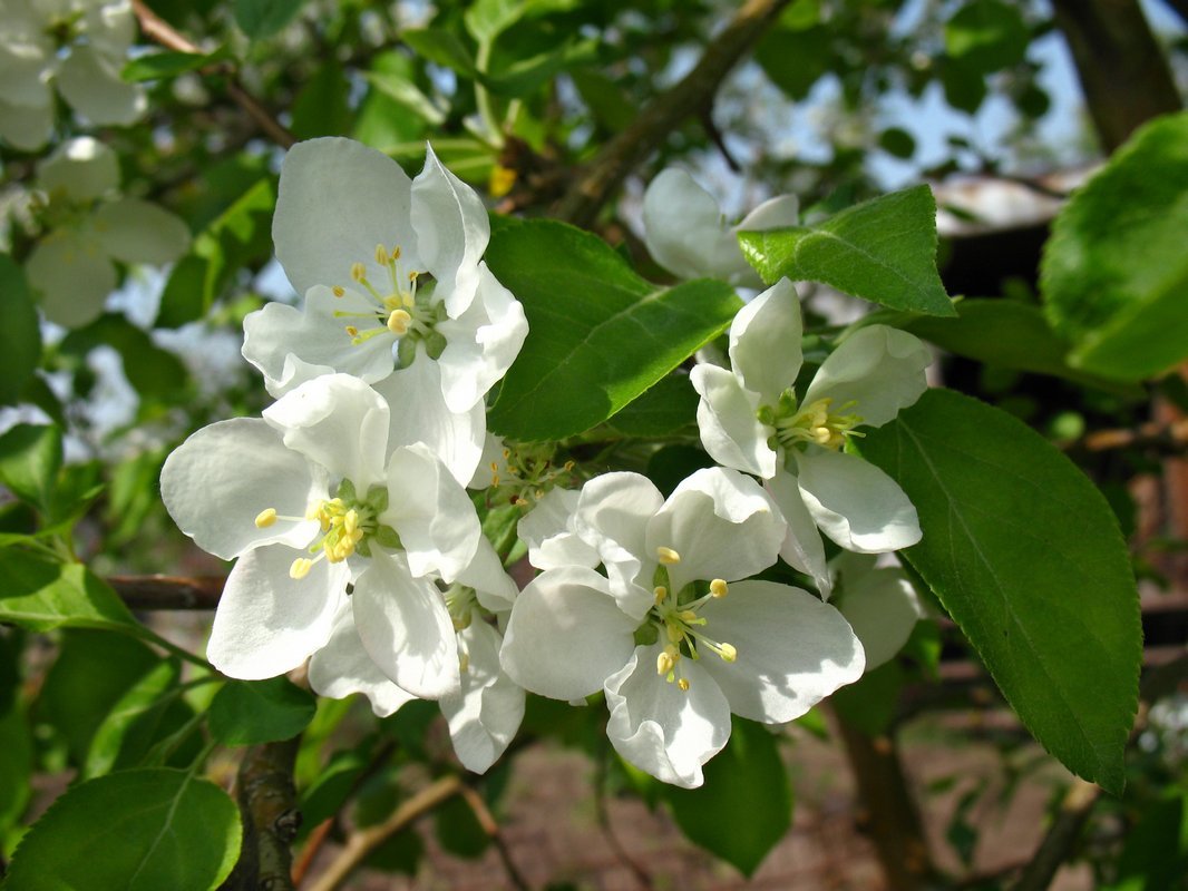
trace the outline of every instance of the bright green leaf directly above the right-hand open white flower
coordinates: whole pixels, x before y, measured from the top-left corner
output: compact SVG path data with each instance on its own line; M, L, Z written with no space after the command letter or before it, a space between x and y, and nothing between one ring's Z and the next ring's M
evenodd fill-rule
M936 272L936 202L927 185L884 195L816 226L740 232L767 284L822 282L892 309L953 316Z

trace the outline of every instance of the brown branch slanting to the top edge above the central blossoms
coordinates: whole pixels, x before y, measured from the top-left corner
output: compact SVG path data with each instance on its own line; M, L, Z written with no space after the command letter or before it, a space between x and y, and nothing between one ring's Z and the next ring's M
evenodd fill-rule
M639 116L607 143L557 204L556 216L589 227L611 195L682 121L713 101L722 78L776 20L789 0L747 0L697 65L671 89L652 99Z

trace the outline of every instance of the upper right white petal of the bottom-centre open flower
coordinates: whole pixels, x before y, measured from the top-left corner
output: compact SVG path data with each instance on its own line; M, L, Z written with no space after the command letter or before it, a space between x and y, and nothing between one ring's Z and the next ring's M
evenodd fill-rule
M668 568L680 590L695 580L732 582L776 562L784 519L750 476L710 467L683 480L647 524L647 552L671 548L681 561Z

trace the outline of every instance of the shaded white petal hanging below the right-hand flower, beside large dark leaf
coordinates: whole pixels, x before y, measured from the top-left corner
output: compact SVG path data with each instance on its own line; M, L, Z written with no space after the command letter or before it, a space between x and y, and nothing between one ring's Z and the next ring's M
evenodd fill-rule
M866 650L866 668L878 668L911 637L920 619L920 604L901 569L873 569L855 580L843 576L836 600Z

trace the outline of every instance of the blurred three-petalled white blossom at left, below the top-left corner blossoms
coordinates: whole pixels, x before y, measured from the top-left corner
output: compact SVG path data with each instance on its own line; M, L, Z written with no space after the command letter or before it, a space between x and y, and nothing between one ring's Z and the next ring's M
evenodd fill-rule
M190 242L173 214L119 196L115 153L90 137L58 146L38 165L38 177L53 228L33 247L25 272L51 322L78 328L94 321L118 283L113 261L160 266Z

